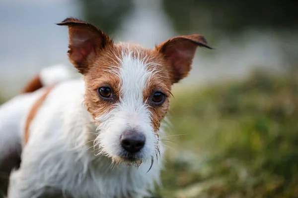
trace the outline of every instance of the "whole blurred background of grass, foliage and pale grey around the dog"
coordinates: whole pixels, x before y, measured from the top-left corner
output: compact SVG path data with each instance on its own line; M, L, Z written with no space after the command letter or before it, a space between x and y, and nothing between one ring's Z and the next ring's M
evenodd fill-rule
M298 1L0 0L0 101L68 61L69 16L153 48L199 33L174 86L162 198L298 197Z

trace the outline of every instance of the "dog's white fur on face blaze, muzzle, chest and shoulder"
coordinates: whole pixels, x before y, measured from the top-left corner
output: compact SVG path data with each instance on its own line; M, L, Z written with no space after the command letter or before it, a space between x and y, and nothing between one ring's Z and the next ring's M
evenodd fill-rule
M121 104L98 118L102 122L99 127L83 105L83 81L61 83L50 92L30 125L21 167L10 177L8 198L37 198L52 193L60 193L52 195L55 198L150 196L155 182L159 183L162 164L155 160L147 173L157 137L142 94L154 70L147 69L148 60L133 58L131 53L123 53L120 59L121 69L116 75L121 77ZM110 158L119 154L119 137L126 126L137 127L146 135L139 156L144 162L139 168L113 164ZM94 147L94 140L99 148Z

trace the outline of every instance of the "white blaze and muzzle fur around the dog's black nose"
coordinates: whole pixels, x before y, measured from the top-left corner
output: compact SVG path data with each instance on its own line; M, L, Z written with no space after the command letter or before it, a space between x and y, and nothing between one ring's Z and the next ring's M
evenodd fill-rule
M130 129L146 136L144 148L138 153L138 158L151 160L156 156L158 140L151 125L151 113L143 98L143 92L149 86L150 76L155 70L149 70L153 64L145 57L140 59L140 52L122 52L118 57L119 70L113 73L119 76L120 92L122 98L115 104L111 112L97 118L101 122L98 127L99 135L96 143L100 148L100 154L107 155L116 161L123 153L120 145L121 134Z

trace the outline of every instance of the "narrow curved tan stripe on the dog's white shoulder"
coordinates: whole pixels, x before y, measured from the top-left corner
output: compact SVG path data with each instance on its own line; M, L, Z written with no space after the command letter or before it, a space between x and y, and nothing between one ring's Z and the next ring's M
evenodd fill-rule
M26 144L28 142L29 139L29 127L30 124L32 122L32 120L34 119L38 109L41 107L41 105L43 104L43 101L47 98L48 94L50 93L50 91L53 89L54 86L50 86L47 87L45 90L45 93L36 100L36 102L33 104L31 110L29 111L26 123L25 123L25 131L24 131L24 143Z

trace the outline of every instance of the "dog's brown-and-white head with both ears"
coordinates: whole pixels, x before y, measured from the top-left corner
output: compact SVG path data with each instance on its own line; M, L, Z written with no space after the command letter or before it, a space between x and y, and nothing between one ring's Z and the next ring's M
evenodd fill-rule
M140 164L159 152L158 130L167 113L171 86L188 75L201 35L171 38L145 49L114 44L96 27L68 18L69 57L86 83L85 104L98 123L99 153Z

